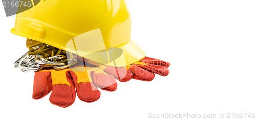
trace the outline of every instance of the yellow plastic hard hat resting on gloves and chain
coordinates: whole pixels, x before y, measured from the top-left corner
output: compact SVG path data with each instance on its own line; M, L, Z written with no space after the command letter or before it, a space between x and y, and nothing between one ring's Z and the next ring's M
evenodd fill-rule
M44 0L17 13L11 29L15 35L111 66L145 57L131 40L131 14L125 0Z

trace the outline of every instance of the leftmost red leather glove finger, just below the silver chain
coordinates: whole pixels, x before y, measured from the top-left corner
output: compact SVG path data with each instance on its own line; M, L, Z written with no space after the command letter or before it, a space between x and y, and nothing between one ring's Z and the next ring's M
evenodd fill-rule
M52 79L50 71L36 71L33 85L33 99L44 98L52 90Z

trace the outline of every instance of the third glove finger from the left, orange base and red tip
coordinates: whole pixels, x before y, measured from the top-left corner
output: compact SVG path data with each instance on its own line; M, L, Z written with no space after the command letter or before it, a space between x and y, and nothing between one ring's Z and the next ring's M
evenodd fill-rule
M84 67L72 68L69 75L72 77L76 86L76 93L78 98L84 102L95 102L100 98L100 91L90 81L88 73Z

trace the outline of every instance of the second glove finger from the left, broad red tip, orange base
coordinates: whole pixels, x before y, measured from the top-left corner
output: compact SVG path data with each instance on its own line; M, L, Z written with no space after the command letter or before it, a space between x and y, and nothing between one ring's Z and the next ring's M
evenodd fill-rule
M52 93L50 102L59 107L69 107L75 102L75 86L71 77L66 75L67 70L51 70Z

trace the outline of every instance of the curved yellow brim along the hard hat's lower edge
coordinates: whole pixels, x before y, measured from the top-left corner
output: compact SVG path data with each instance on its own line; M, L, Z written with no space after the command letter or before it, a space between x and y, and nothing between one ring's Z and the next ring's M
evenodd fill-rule
M79 51L77 49L67 48L67 46L65 45L61 45L61 44L56 45L47 40L17 33L15 32L15 28L11 29L11 33L14 35L26 37L29 39L33 39L39 42L49 44L51 46L57 47L58 49L65 50L73 54L87 58L89 60L92 60L101 64L109 65L109 66L124 67L136 61L139 61L145 57L145 53L140 49L140 47L133 40L131 40L129 43L106 48L105 50L102 50L102 51L88 53L85 51Z

